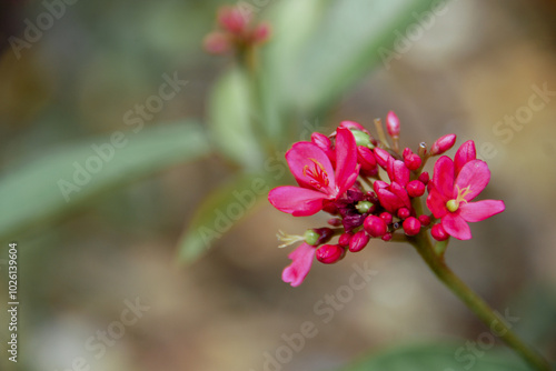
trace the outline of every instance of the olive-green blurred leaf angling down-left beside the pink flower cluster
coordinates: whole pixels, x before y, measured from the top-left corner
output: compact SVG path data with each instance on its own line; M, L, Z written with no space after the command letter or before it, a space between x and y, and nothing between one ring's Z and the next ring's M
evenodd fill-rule
M211 191L195 211L178 243L179 260L191 262L202 255L237 222L266 201L275 180L266 173L241 174Z

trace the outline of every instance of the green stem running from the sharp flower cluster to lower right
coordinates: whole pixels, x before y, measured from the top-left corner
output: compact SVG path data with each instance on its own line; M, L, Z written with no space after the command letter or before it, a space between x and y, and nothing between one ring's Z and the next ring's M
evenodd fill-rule
M536 350L519 339L506 324L506 321L488 307L467 284L446 265L444 254L437 254L426 231L421 231L409 242L415 247L428 267L477 317L496 334L514 349L530 367L538 371L549 371L548 362Z

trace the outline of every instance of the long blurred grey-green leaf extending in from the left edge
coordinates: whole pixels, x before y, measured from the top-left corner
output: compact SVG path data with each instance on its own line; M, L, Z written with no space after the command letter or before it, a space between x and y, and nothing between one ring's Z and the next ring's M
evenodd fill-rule
M137 129L137 128L136 128ZM209 152L199 124L117 131L60 148L0 181L0 240L60 218L102 191Z

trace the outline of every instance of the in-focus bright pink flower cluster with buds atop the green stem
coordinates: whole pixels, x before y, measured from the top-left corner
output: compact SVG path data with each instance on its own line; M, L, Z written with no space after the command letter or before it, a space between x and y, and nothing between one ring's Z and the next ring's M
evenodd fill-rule
M454 160L441 156L433 177L423 171L429 158L448 151L455 134L436 140L430 148L420 143L417 152L399 149L399 119L386 118L387 139L380 120L375 120L378 139L354 121L342 121L330 136L312 133L310 141L295 143L286 160L299 187L272 189L268 200L294 217L319 211L331 215L328 227L310 229L304 235L281 234L281 247L302 242L288 258L282 280L301 284L312 260L335 263L347 251L363 250L371 239L410 241L419 233L437 241L450 235L471 238L467 222L476 222L504 211L503 201L470 202L487 186L490 172L476 159L475 143L467 141ZM421 197L428 193L424 212ZM338 237L337 242L331 239Z

